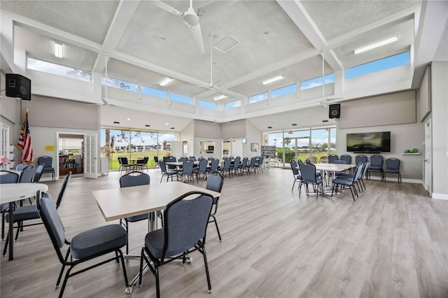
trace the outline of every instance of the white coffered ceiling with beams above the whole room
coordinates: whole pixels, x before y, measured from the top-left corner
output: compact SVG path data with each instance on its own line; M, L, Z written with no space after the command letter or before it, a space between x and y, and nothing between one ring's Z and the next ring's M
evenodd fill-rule
M261 81L272 76L285 78L269 88L320 76L323 49L325 73L411 50L422 7L421 1L408 0L193 1L193 7L200 8L201 55L182 17L155 2L1 1L1 10L20 16L14 46L29 57L104 73L107 53L111 77L204 100L216 95L194 87L210 83L210 41L216 45L231 36L238 42L235 47L213 50L213 83L232 94L226 99L232 101L266 92ZM162 3L181 13L190 5ZM355 48L391 36L398 36L398 42L353 54ZM64 43L62 60L52 55L54 41ZM174 81L158 86L167 76Z

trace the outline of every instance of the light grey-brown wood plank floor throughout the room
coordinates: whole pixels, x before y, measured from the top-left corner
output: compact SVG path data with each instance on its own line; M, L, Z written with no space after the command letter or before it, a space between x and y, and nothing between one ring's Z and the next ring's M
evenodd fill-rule
M159 183L160 171L149 173ZM59 208L67 239L106 225L91 192L118 187L118 178L112 172L70 181ZM54 198L60 184L48 182ZM196 252L193 264L161 267L162 297L448 297L448 201L396 180L367 181L356 202L348 190L299 197L292 184L290 170L273 168L225 178L218 208L223 242L213 225L207 234L213 292ZM132 253L139 253L146 227L131 225ZM125 262L132 279L139 261ZM1 297L57 297L60 267L43 225L27 227L15 260L1 258ZM142 287L126 295L120 267L109 263L70 278L64 297L155 297L155 281L148 271Z

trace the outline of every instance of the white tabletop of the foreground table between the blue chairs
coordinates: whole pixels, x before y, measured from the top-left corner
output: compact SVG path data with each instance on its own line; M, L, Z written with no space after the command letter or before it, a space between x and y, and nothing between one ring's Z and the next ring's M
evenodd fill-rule
M162 210L187 192L201 191L219 197L219 192L178 181L154 183L92 192L106 222Z

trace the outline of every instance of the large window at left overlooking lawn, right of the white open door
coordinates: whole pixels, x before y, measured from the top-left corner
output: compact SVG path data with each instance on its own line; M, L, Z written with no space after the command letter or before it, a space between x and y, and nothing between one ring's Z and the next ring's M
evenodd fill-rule
M118 157L149 157L148 166L154 166L154 157L159 159L171 151L171 142L179 140L177 132L143 131L137 129L101 129L102 156L109 156L109 168L119 169Z

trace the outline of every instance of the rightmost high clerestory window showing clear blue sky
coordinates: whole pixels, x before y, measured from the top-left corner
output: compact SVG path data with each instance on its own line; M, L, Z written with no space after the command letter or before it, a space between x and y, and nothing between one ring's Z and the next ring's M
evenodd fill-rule
M379 59L374 62L351 67L345 70L345 78L356 78L357 76L363 76L367 73L374 73L376 71L383 71L384 69L391 69L396 66L402 66L409 64L409 52L403 52L402 54Z

